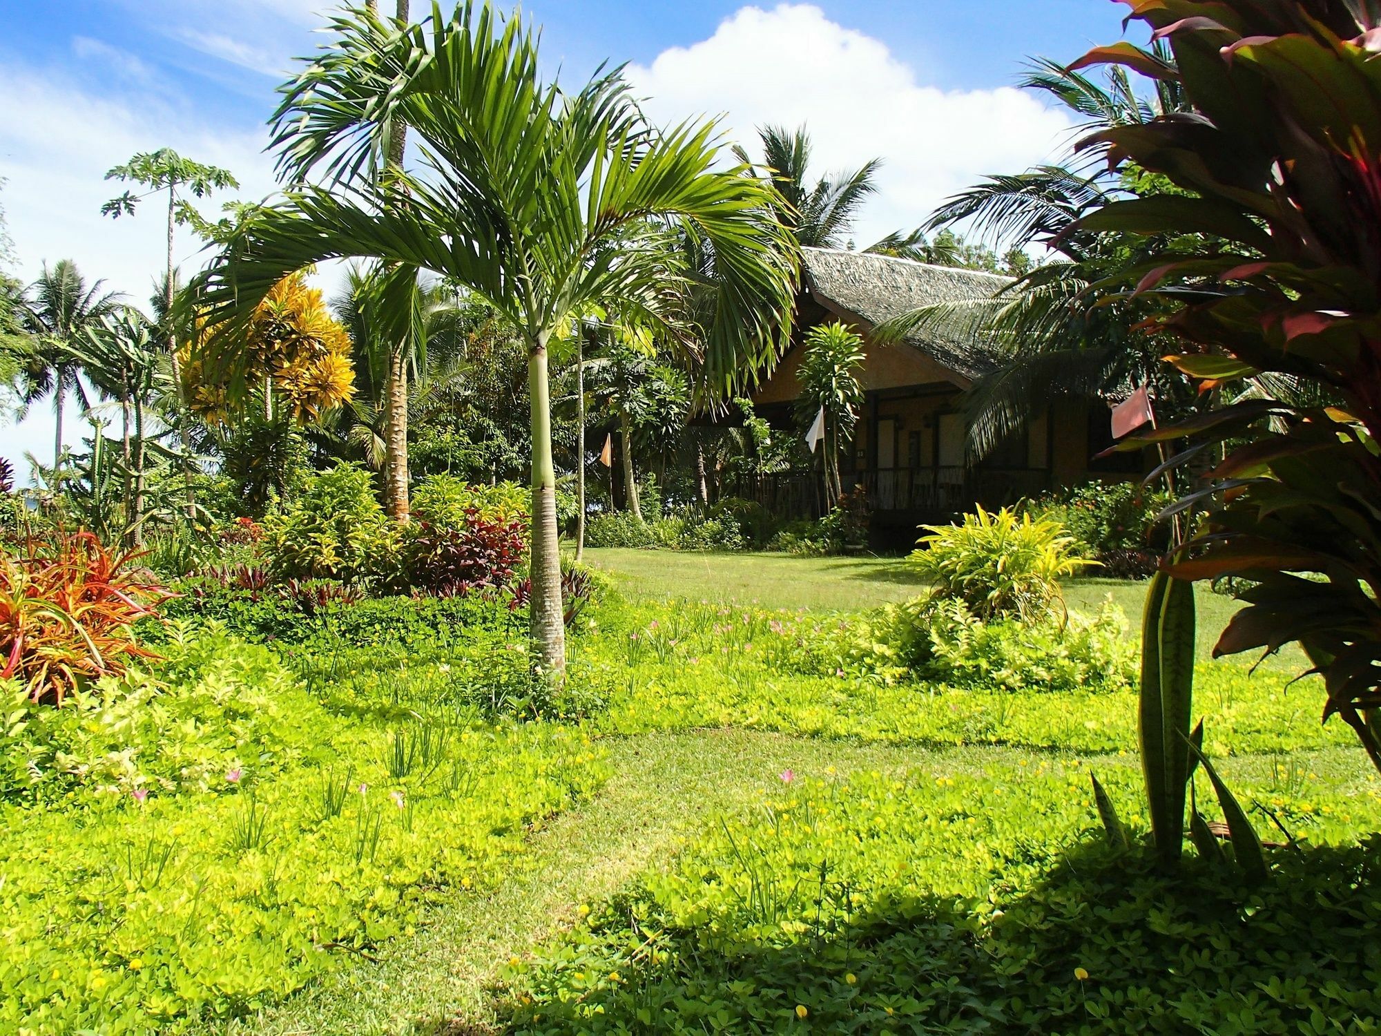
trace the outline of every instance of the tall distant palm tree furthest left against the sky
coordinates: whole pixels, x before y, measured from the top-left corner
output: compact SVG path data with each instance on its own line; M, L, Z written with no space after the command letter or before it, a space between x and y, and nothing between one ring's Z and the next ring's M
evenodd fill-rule
M33 348L25 355L21 380L23 401L32 403L46 395L52 396L57 421L52 441L52 466L62 463L62 413L68 394L84 395L81 365L72 348L101 318L112 314L120 298L119 291L102 291L104 280L87 286L76 262L59 260L51 268L44 264L39 279L29 286L25 307L28 332Z

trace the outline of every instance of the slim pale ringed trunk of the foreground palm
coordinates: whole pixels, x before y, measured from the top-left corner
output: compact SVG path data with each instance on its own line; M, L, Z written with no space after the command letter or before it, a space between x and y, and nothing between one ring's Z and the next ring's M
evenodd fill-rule
M557 467L551 459L551 391L543 332L528 347L532 406L532 595L529 624L536 664L561 678L566 670L566 623L561 602L561 539L557 533Z

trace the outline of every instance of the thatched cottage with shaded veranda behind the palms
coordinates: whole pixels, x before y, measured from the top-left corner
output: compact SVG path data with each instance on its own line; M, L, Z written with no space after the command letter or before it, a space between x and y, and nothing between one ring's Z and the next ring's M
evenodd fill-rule
M1059 485L1139 470L1139 459L1095 460L1110 445L1101 401L1061 399L1021 434L974 463L965 450L961 396L993 370L990 351L960 333L927 332L900 344L876 341L874 327L911 309L990 297L1005 278L840 249L804 249L791 347L753 402L773 425L795 428L795 370L811 327L842 320L865 341L863 413L840 456L844 485L867 492L874 526L910 535L975 503L997 507ZM1123 474L1126 477L1126 474ZM823 500L818 479L769 475L749 488L780 514L809 517Z

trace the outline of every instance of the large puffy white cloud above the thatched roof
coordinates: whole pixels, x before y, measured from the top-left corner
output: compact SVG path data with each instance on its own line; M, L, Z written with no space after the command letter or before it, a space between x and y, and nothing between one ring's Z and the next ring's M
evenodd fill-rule
M714 36L663 51L628 79L664 123L724 116L729 140L757 149L757 127L805 124L816 175L885 164L862 210L860 247L924 222L949 195L987 173L1055 155L1070 124L1011 87L946 91L881 40L831 22L809 4L744 7Z

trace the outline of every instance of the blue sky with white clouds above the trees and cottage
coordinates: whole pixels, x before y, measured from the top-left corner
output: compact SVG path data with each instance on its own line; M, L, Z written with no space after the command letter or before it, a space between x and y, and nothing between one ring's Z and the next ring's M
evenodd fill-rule
M380 0L391 10L394 0ZM151 210L99 215L102 182L135 151L174 146L228 166L240 196L273 189L262 153L273 87L320 41L330 0L0 0L0 206L8 272L70 257L137 303L162 265ZM413 0L414 17L429 8ZM1052 157L1069 117L1012 90L1029 55L1072 59L1121 35L1109 0L530 0L562 79L628 62L664 122L722 116L733 140L805 122L820 171L885 159L860 244L914 227L985 173ZM209 206L214 210L214 203ZM178 239L178 261L197 244ZM51 452L47 407L0 427L0 454ZM80 423L72 423L80 432ZM18 466L25 467L22 463Z

